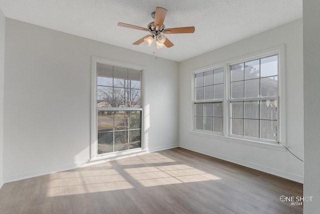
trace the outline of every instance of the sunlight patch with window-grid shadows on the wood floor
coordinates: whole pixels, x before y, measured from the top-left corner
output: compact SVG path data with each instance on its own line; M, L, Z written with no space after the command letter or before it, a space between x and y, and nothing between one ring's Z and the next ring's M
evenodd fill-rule
M157 152L115 160L112 163L52 173L46 183L48 197L159 186L220 179ZM167 163L168 165L161 165ZM141 166L142 165L142 166ZM93 170L92 170L93 169Z

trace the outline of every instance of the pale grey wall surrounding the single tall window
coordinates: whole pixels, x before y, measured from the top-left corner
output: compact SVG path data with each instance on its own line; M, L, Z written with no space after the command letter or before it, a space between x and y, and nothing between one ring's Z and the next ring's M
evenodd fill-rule
M145 67L148 149L178 145L177 62L10 18L5 36L4 182L88 160L91 55Z

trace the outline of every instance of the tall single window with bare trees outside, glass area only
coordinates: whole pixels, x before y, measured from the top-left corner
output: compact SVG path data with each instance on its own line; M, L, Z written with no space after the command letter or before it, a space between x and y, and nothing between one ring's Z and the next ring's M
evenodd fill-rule
M141 147L141 70L96 63L95 155Z

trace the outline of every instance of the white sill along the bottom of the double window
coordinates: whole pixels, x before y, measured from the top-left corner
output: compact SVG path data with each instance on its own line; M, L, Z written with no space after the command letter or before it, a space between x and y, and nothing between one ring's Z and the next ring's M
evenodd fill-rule
M252 146L269 148L269 149L280 150L280 151L286 151L284 146L282 146L280 143L268 143L268 142L254 141L254 140L249 140L249 139L241 139L241 138L224 136L224 135L213 134L213 133L205 133L205 132L200 132L200 131L195 131L195 130L189 131L189 133L192 135L207 137L210 139L218 139L218 140L224 140L224 141L228 141L228 142L242 143L242 144L246 144L246 145L252 145Z

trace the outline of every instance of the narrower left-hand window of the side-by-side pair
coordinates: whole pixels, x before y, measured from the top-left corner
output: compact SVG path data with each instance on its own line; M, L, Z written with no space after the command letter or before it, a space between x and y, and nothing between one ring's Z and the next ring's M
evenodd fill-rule
M194 129L223 132L223 68L194 74Z

